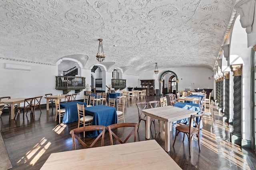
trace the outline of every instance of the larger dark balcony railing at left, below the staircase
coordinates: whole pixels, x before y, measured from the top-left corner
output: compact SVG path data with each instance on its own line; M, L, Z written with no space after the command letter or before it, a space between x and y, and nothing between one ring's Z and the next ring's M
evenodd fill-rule
M85 89L85 77L75 76L56 76L56 90L63 90L63 94L67 94L70 90L79 93Z

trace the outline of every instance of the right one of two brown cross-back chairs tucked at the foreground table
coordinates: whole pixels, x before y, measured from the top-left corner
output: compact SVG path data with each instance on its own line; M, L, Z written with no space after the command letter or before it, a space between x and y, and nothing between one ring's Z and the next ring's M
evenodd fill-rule
M130 131L129 135L125 138L123 133L120 133L118 137L118 128L123 128L125 131ZM108 132L109 132L109 137L110 137L110 145L113 145L113 136L114 138L121 144L126 143L128 139L134 134L134 142L136 142L136 135L137 135L137 129L138 129L138 124L137 123L117 123L117 124L112 124L108 125L107 127ZM120 139L121 138L121 139Z

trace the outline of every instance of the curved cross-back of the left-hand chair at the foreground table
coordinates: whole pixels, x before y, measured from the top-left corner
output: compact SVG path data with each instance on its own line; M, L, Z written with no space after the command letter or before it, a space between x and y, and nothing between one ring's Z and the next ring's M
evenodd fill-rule
M100 135L93 141L91 145L86 145L84 141L82 141L76 134L81 133L81 132L86 132L86 131L101 131ZM76 129L72 129L70 131L70 135L72 136L72 141L73 141L73 150L76 150L76 141L77 139L85 148L92 148L94 144L100 139L101 137L101 146L103 147L104 145L104 136L105 136L105 131L106 127L105 126L100 126L100 125L90 125L90 126L84 126L84 127L78 127Z

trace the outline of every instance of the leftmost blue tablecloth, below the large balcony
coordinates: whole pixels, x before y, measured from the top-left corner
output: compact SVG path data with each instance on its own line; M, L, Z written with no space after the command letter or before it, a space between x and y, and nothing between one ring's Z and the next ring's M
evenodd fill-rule
M60 103L60 108L65 108L65 114L62 119L62 123L72 123L78 121L78 113L77 113L77 105L76 104L83 104L86 107L86 103L84 102L66 102Z

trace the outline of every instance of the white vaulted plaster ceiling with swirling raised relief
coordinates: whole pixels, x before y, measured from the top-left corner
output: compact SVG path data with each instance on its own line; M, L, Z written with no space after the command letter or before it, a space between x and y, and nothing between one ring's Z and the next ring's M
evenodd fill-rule
M1 0L0 59L127 74L170 67L212 69L235 0ZM106 62L106 63L105 63Z

